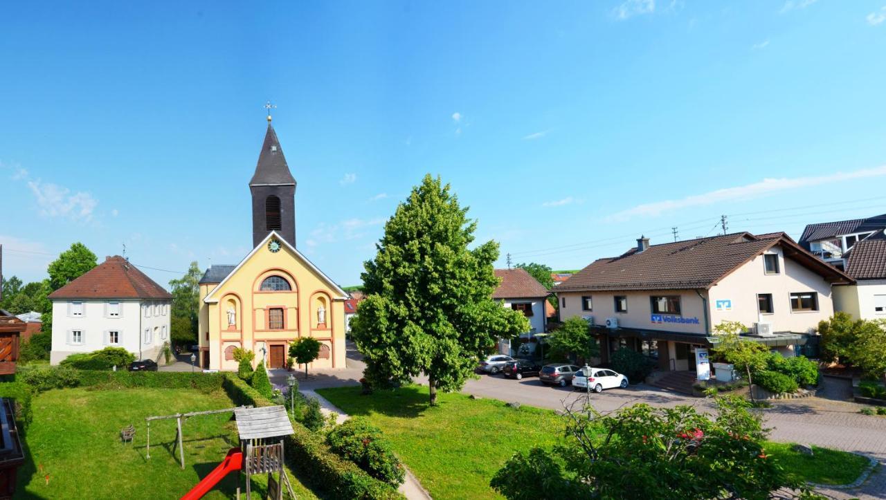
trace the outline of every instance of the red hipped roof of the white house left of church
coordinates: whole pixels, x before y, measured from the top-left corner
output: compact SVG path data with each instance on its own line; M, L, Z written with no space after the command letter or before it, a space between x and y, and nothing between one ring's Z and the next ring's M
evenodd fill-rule
M172 296L127 259L115 255L58 288L49 298L171 299Z

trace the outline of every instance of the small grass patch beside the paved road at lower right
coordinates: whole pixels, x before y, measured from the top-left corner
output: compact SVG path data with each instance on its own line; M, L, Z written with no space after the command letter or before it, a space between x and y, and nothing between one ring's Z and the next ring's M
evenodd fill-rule
M812 447L812 457L791 450L793 443L767 442L766 453L804 481L819 484L849 484L859 479L869 460L854 453Z

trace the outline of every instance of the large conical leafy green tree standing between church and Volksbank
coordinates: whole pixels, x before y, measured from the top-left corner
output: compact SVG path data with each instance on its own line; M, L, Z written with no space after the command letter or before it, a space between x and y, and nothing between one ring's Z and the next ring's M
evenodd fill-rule
M470 249L475 220L449 185L425 175L397 207L362 273L366 299L351 328L377 384L424 373L431 404L437 390L458 390L496 339L529 329L521 312L495 302L496 242Z

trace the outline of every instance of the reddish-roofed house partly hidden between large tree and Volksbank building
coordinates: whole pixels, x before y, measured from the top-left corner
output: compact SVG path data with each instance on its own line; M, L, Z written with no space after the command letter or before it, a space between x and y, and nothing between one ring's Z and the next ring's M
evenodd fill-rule
M519 338L521 344L526 346L525 353L532 353L538 343L535 335L544 333L548 325L546 304L550 293L525 269L496 269L495 276L501 283L495 288L493 298L504 307L523 312L526 319L529 319L529 331ZM501 354L517 355L518 351L514 342L507 339L499 342Z

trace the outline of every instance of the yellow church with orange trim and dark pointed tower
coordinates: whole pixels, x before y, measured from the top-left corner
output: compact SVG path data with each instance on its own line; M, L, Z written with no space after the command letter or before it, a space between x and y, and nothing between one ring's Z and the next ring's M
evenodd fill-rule
M347 293L295 247L295 178L268 116L252 181L253 250L237 265L213 265L200 284L200 365L236 370L234 350L282 368L290 342L320 341L313 368L345 367Z

